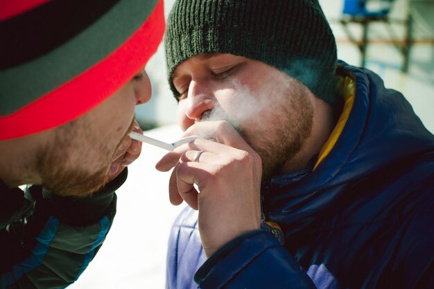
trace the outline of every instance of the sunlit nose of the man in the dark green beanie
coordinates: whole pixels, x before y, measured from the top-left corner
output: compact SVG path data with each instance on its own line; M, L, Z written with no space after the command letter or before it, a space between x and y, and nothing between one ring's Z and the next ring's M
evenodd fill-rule
M186 98L185 115L193 120L200 120L205 112L214 109L215 98L209 84L192 80Z

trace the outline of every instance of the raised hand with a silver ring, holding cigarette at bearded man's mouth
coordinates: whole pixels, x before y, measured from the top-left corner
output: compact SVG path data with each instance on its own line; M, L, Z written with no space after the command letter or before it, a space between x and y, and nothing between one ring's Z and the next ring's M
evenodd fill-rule
M237 236L260 228L261 158L227 121L196 123L184 136L192 134L207 137L168 152L155 167L173 168L172 204L184 200L199 210L200 237L209 257Z

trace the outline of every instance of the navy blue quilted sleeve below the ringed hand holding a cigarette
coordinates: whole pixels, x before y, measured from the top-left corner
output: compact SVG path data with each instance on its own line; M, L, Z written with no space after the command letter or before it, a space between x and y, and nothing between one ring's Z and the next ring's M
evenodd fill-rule
M230 268L230 270L228 270ZM316 288L277 239L257 230L211 256L195 275L199 288Z

